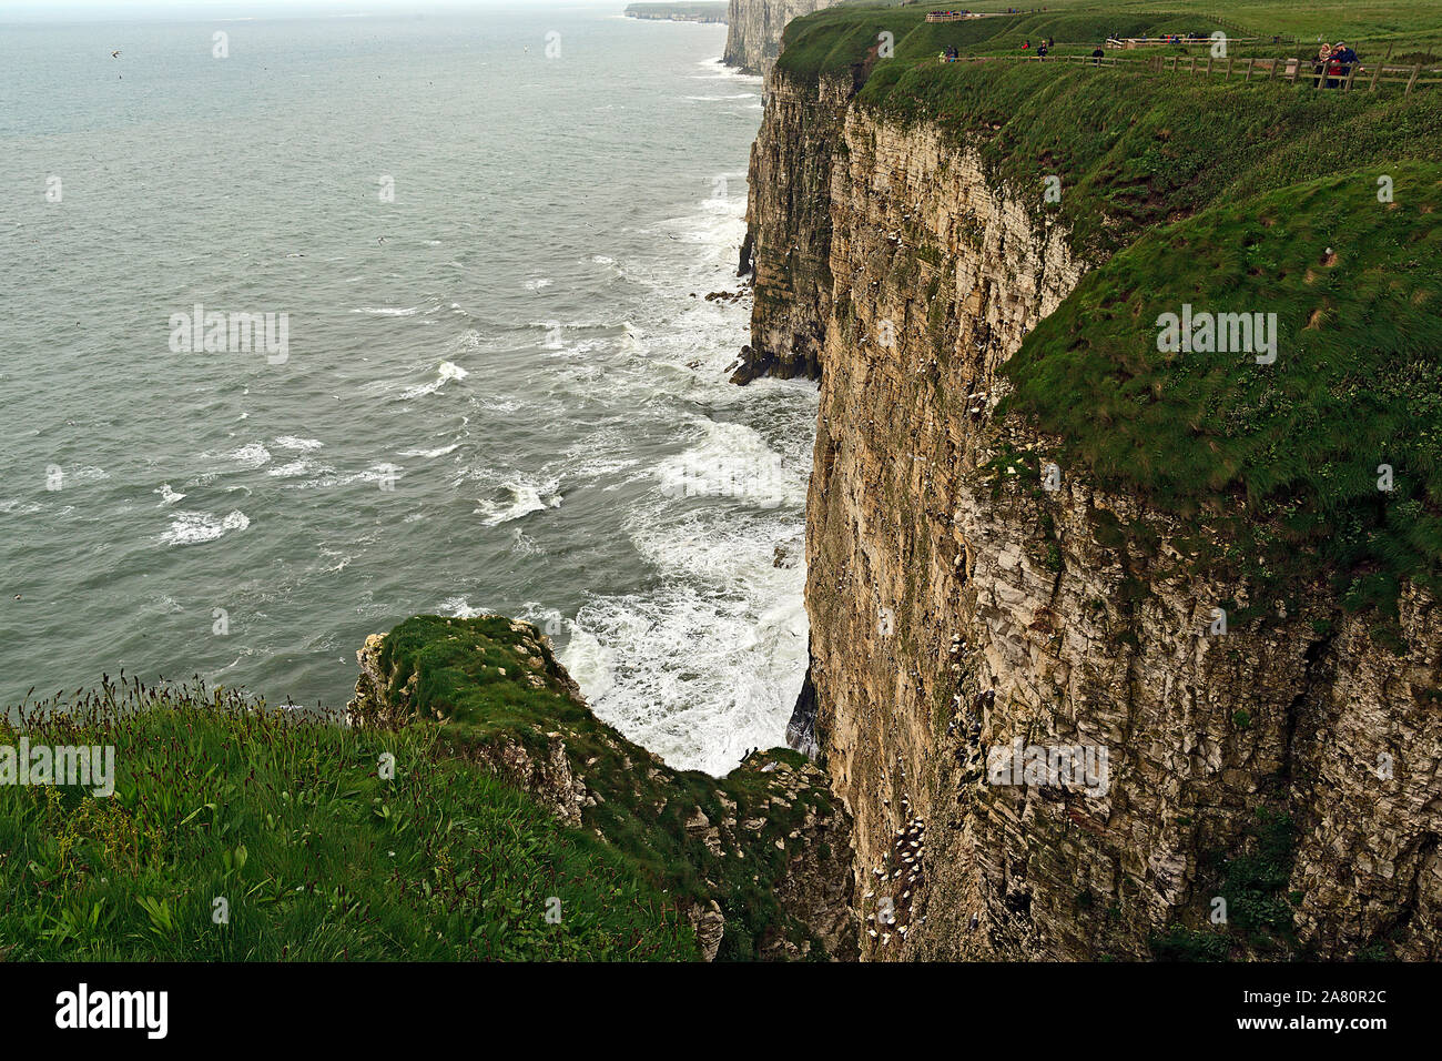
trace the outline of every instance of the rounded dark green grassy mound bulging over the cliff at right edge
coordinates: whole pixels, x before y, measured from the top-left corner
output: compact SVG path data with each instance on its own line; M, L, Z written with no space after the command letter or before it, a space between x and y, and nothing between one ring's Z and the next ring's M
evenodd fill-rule
M1405 582L1436 590L1442 167L1390 176L1390 204L1361 170L1148 232L1027 336L1002 411L1187 520L1204 562L1279 590L1325 577L1354 609L1389 611ZM1159 352L1155 322L1184 300L1276 313L1276 364Z

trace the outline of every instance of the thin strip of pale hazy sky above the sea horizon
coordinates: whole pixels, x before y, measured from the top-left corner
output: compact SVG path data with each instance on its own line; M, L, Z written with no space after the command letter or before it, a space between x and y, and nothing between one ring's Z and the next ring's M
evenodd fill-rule
M467 7L609 7L629 0L0 0L0 23L75 19L265 19L395 14Z

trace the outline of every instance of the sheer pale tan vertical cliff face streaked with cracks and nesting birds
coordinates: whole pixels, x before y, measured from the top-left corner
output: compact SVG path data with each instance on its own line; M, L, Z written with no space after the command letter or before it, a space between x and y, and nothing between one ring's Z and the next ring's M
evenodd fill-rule
M1214 634L1247 586L1174 563L1168 515L999 462L1045 440L994 417L998 368L1094 263L1037 192L846 94L773 87L753 348L766 367L825 336L815 730L854 816L867 956L1207 947L1227 895L1233 947L1436 957L1436 602L1405 593L1402 655L1322 588ZM1105 749L1105 781L989 780L1014 742Z

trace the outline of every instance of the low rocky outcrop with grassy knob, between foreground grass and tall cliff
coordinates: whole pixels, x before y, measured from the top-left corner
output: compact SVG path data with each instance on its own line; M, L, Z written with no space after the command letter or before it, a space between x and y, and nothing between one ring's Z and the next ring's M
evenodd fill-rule
M356 660L353 725L437 723L456 754L660 872L705 960L855 957L851 820L802 756L673 771L596 719L535 626L500 616L415 616Z

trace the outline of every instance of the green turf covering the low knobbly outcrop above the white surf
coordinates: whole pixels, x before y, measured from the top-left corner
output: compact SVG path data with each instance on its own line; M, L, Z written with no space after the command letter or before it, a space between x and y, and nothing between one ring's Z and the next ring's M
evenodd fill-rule
M405 700L421 717L446 719L447 739L457 749L515 741L539 752L547 733L564 732L568 758L600 797L585 808L585 826L678 899L715 898L727 918L718 957L758 957L777 935L819 953L805 927L780 909L774 888L786 872L787 837L808 817L832 813L825 784L802 787L795 797L779 791L782 780L806 764L803 755L773 749L722 780L669 769L567 696L554 680L549 648L525 635L518 639L503 618L414 616L386 637L381 661L391 676L388 699ZM536 673L548 676L544 689L532 684L529 676ZM757 759L784 769L763 774ZM686 827L696 810L712 824L748 818L763 824L743 857L718 855Z

